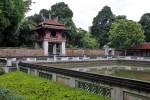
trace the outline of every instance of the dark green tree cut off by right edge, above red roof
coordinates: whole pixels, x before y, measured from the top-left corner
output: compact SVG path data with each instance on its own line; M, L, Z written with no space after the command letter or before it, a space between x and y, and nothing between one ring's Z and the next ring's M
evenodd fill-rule
M150 42L150 13L144 14L139 23L142 25L145 35L145 41Z

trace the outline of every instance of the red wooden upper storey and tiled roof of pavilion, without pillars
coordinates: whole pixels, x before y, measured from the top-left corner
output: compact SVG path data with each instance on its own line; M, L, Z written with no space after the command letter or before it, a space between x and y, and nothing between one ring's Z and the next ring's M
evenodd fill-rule
M58 21L54 20L44 20L34 29L39 35L37 42L48 40L48 42L65 42L65 32L68 29Z

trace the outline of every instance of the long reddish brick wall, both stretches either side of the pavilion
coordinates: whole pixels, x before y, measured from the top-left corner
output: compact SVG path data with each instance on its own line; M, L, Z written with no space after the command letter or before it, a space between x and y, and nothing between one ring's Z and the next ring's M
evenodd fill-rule
M117 53L115 52L117 55ZM66 48L66 56L103 56L103 49L70 49ZM121 54L119 54L121 55ZM15 57L15 56L44 56L43 48L0 48L0 57Z

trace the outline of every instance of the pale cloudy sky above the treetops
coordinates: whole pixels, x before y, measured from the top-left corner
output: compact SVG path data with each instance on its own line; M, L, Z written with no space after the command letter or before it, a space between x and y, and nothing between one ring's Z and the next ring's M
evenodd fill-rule
M27 16L39 13L41 9L50 9L51 5L65 2L73 11L76 26L88 30L93 18L105 6L111 7L113 14L126 15L128 19L139 21L144 13L150 13L150 0L32 0L31 11Z

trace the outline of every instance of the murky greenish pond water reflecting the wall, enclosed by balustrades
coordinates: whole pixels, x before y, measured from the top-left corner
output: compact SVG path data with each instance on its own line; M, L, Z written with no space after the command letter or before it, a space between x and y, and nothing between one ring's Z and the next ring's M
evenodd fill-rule
M150 81L150 67L105 65L105 66L78 67L78 68L76 67L65 69Z

